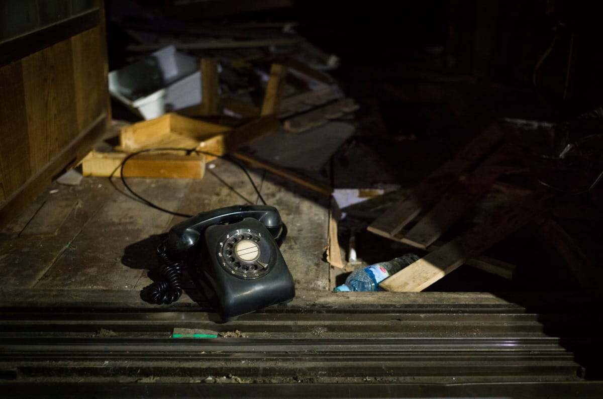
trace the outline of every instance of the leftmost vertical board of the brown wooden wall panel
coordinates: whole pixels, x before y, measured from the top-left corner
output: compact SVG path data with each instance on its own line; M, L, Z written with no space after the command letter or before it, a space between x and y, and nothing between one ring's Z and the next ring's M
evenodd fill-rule
M31 175L21 61L0 68L0 184L6 198Z

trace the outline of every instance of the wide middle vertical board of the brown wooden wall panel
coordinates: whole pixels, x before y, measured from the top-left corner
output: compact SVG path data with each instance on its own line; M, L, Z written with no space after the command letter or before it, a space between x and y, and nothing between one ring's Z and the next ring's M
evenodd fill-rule
M36 172L80 132L71 40L25 57L22 65L30 164Z

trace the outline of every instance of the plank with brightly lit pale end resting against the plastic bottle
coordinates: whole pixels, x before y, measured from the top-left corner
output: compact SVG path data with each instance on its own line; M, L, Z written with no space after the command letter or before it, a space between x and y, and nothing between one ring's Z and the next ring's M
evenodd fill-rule
M537 218L547 207L548 196L523 198L500 207L488 221L427 254L390 278L380 287L386 291L418 292L440 280L467 259L477 256L499 240Z

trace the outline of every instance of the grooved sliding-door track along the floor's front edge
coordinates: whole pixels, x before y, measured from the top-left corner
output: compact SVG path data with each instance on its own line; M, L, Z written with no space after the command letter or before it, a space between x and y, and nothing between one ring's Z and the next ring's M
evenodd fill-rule
M148 398L589 397L601 389L598 304L534 309L301 304L221 324L203 308L11 306L0 315L0 385L26 396L52 383L60 397L114 388L112 397ZM238 338L171 338L174 328ZM282 390L291 384L298 388Z

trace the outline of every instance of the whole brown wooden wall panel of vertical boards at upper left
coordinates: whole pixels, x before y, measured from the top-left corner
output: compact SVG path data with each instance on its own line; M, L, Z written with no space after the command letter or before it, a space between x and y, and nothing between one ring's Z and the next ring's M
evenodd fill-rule
M96 21L92 28L68 20L60 34L46 38L49 45L39 51L28 48L25 54L33 54L0 67L0 226L53 177L75 166L110 121L104 10L99 5L89 13L93 18L88 23Z

